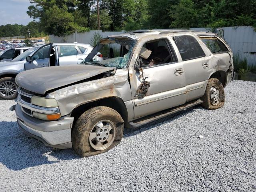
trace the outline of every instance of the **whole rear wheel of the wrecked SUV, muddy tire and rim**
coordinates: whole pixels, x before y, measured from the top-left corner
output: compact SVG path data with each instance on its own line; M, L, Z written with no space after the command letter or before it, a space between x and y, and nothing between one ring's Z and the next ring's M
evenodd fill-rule
M208 80L204 96L202 96L202 106L206 109L218 109L224 105L225 93L221 82L216 78Z

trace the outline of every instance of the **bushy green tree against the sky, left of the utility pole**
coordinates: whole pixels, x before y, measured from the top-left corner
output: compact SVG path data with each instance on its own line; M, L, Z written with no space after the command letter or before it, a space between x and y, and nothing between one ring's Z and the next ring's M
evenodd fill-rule
M39 18L40 27L47 34L65 36L74 33L75 30L78 32L89 30L81 26L84 20L78 20L77 0L30 0L30 2L35 5L28 7L28 15L34 19Z

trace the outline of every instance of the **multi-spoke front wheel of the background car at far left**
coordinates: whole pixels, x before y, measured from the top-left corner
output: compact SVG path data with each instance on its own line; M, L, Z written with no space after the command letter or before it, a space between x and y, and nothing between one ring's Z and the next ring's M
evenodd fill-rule
M15 78L4 77L0 79L0 98L4 100L12 100L17 97L17 85Z

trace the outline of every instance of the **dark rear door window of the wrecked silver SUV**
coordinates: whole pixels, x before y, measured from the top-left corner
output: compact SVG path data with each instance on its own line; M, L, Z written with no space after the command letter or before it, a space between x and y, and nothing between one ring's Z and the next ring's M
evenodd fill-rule
M193 36L175 36L173 37L173 40L176 46L178 47L178 50L183 61L205 56L204 51L202 50L200 44Z

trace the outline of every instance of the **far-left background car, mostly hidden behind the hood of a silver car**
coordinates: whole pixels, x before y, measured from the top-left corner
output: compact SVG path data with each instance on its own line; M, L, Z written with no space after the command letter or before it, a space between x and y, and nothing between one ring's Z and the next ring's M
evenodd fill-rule
M17 47L17 48L9 48L2 52L0 52L0 62L10 61L30 49L31 47Z

